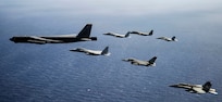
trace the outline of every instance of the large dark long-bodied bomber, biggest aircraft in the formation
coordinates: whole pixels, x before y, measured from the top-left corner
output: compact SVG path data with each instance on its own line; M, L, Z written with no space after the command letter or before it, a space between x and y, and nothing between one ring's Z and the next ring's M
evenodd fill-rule
M89 37L91 31L91 24L87 24L78 35L60 35L60 36L47 36L47 37L37 37L37 36L17 36L10 38L11 41L26 42L26 43L67 43L67 42L77 42L77 41L91 41L97 40L97 37Z

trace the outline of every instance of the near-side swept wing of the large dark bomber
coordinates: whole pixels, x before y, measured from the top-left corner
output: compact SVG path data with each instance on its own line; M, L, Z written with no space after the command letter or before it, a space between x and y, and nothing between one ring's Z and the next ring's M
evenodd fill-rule
M41 38L41 37L36 37L36 36L30 36L30 38L33 38L33 40L28 40L29 42L38 42L38 41L41 41L41 42L61 42L61 40L52 40L52 39L46 39L46 38Z

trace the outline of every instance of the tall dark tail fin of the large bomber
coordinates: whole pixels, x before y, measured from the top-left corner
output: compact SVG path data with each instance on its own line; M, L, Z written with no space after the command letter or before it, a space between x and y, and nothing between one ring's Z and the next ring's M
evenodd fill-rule
M89 38L92 24L87 24L77 35L77 38Z

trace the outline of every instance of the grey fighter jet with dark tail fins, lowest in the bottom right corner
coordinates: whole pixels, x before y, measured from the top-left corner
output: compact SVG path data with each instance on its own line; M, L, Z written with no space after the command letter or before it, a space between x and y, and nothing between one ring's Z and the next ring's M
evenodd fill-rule
M187 89L186 91L190 92L190 93L212 93L212 94L218 94L218 92L215 91L215 89L211 88L211 82L207 81L205 82L205 85L192 85L192 84L177 84L177 85L172 85L170 87L174 87L174 88L184 88Z

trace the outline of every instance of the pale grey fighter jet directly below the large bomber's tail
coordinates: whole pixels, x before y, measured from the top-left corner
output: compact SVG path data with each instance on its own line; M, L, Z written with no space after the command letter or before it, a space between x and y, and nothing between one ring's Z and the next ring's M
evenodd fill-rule
M72 49L70 51L84 52L87 55L110 55L109 47L106 47L102 51L89 50L89 49L85 49L85 48Z

